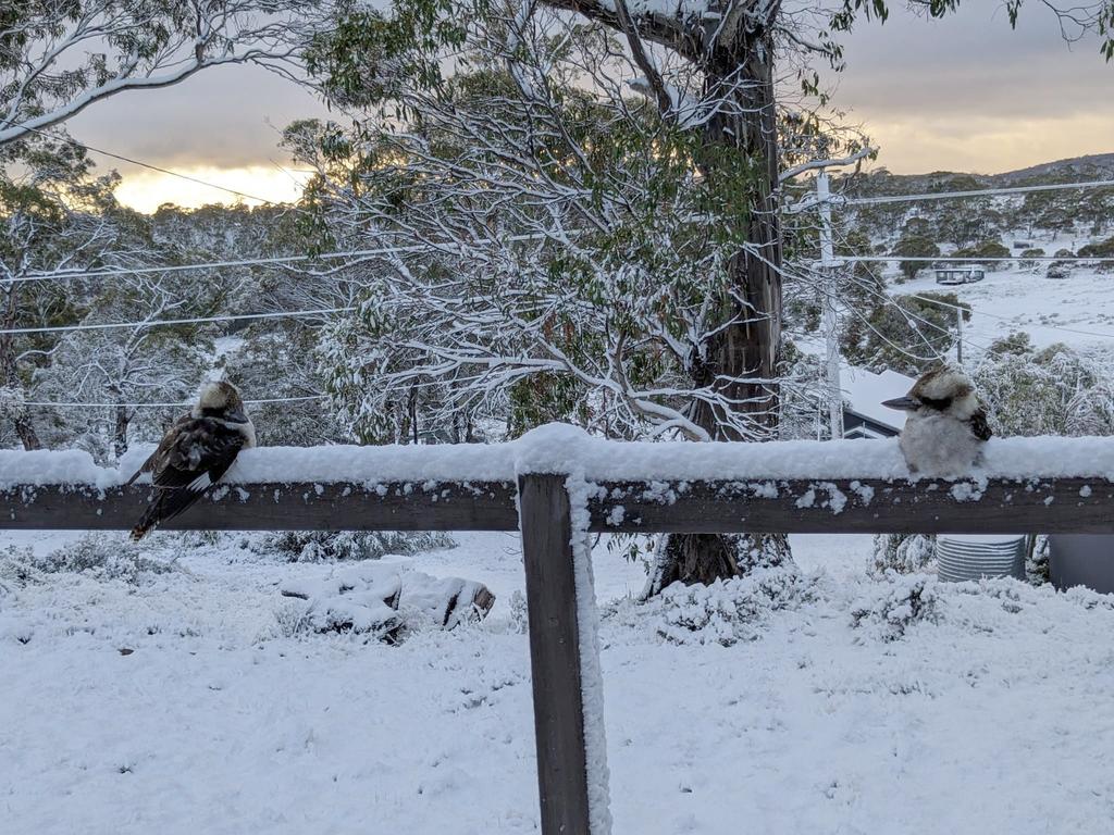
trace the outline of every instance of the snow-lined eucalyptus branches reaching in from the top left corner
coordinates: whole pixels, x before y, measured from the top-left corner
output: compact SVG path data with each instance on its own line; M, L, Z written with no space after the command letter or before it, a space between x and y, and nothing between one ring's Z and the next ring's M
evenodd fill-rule
M0 4L0 146L129 90L213 67L295 77L328 3L311 0L19 0Z

